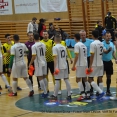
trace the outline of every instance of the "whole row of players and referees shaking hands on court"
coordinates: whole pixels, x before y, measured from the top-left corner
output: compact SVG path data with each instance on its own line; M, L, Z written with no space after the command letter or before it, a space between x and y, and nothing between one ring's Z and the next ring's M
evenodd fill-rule
M93 91L96 91L97 100L104 95L111 96L110 85L113 75L112 58L117 64L116 47L111 42L111 33L104 33L104 40L98 40L99 32L92 31L92 39L86 38L86 32L81 30L74 35L76 42L74 46L75 58L72 60L69 49L65 41L62 41L61 34L56 32L54 41L49 39L48 32L43 31L43 39L39 34L29 31L29 41L20 43L18 35L13 36L13 41L9 34L5 35L6 43L0 43L0 75L8 88L9 96L17 96L18 78L23 78L29 87L29 97L33 96L33 76L28 74L30 66L34 67L37 77L38 88L43 90L42 98L57 100L57 95L61 94L61 79L64 79L67 89L67 100L71 100L72 89L69 82L70 68L68 58L72 65L71 70L76 74L76 83L80 91L77 101L90 99ZM115 39L117 34L115 34ZM25 55L28 63L25 62ZM48 72L51 72L54 84L54 93L49 96ZM76 72L76 73L75 73ZM10 75L12 73L12 88L10 86ZM106 93L103 91L103 75L106 73ZM7 75L6 75L7 74ZM97 77L97 83L94 82ZM7 79L8 78L8 79ZM1 87L2 88L2 87Z

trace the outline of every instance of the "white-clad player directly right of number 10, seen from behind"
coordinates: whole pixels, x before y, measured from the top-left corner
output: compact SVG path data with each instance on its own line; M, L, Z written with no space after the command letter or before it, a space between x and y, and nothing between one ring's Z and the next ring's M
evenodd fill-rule
M85 74L85 70L88 66L87 47L82 42L80 42L80 34L75 34L74 39L76 41L76 44L74 46L75 58L72 70L74 71L76 68L76 82L78 83L80 94L82 95L78 98L78 101L80 101L84 98L90 98L90 84L87 81L87 76ZM85 82L85 91L81 79L83 79Z

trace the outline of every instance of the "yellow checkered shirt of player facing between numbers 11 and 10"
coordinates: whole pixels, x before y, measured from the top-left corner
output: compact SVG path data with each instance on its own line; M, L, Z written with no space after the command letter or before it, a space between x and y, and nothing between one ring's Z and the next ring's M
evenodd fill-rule
M52 48L53 48L53 40L47 39L47 40L41 40L42 43L46 45L46 61L51 62L53 61L53 56L52 56Z

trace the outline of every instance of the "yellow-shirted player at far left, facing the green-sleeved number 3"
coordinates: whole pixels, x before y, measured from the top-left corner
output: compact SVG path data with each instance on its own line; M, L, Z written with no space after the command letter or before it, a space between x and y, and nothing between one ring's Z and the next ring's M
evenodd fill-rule
M14 42L11 41L11 35L5 35L6 43L2 46L2 55L3 55L3 73L6 74L7 80L10 84L10 72L8 71L9 63L10 63L10 49L13 46ZM7 86L5 86L7 88ZM17 90L22 90L20 87L17 87Z

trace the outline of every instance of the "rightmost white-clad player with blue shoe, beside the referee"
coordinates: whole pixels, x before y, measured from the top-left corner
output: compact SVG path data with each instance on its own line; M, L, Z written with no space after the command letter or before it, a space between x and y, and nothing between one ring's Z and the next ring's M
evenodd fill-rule
M93 69L93 72L89 75L89 82L91 83L92 87L99 93L98 99L101 98L104 95L103 92L103 83L102 83L102 77L103 77L103 61L102 61L102 54L103 54L103 44L98 40L99 32L97 30L92 31L92 36L94 39L94 42L90 45L90 66L89 71L91 68ZM93 77L98 77L99 79L99 87L98 85L93 81Z

